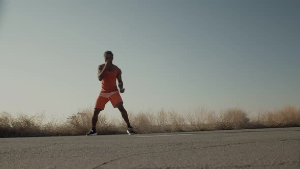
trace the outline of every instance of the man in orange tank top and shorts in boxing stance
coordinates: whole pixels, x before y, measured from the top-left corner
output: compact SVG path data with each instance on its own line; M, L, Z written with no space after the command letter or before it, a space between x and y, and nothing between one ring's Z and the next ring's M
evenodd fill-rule
M121 111L122 117L127 123L129 135L134 134L132 129L127 111L123 106L123 100L119 92L124 93L125 89L123 88L122 81L122 71L117 66L112 64L113 53L111 51L106 51L104 53L105 64L98 66L98 79L101 81L101 92L95 103L94 115L92 118L92 129L88 131L86 136L97 135L96 124L98 121L98 115L100 111L104 110L104 107L108 101L111 102L114 108L118 108ZM119 91L116 86L116 79L118 80Z

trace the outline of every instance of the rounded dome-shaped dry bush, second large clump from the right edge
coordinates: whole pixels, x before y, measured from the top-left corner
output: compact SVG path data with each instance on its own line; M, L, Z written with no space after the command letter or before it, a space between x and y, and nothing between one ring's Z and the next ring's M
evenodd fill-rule
M246 129L249 121L250 119L245 110L228 108L227 110L221 110L216 127L218 130Z

